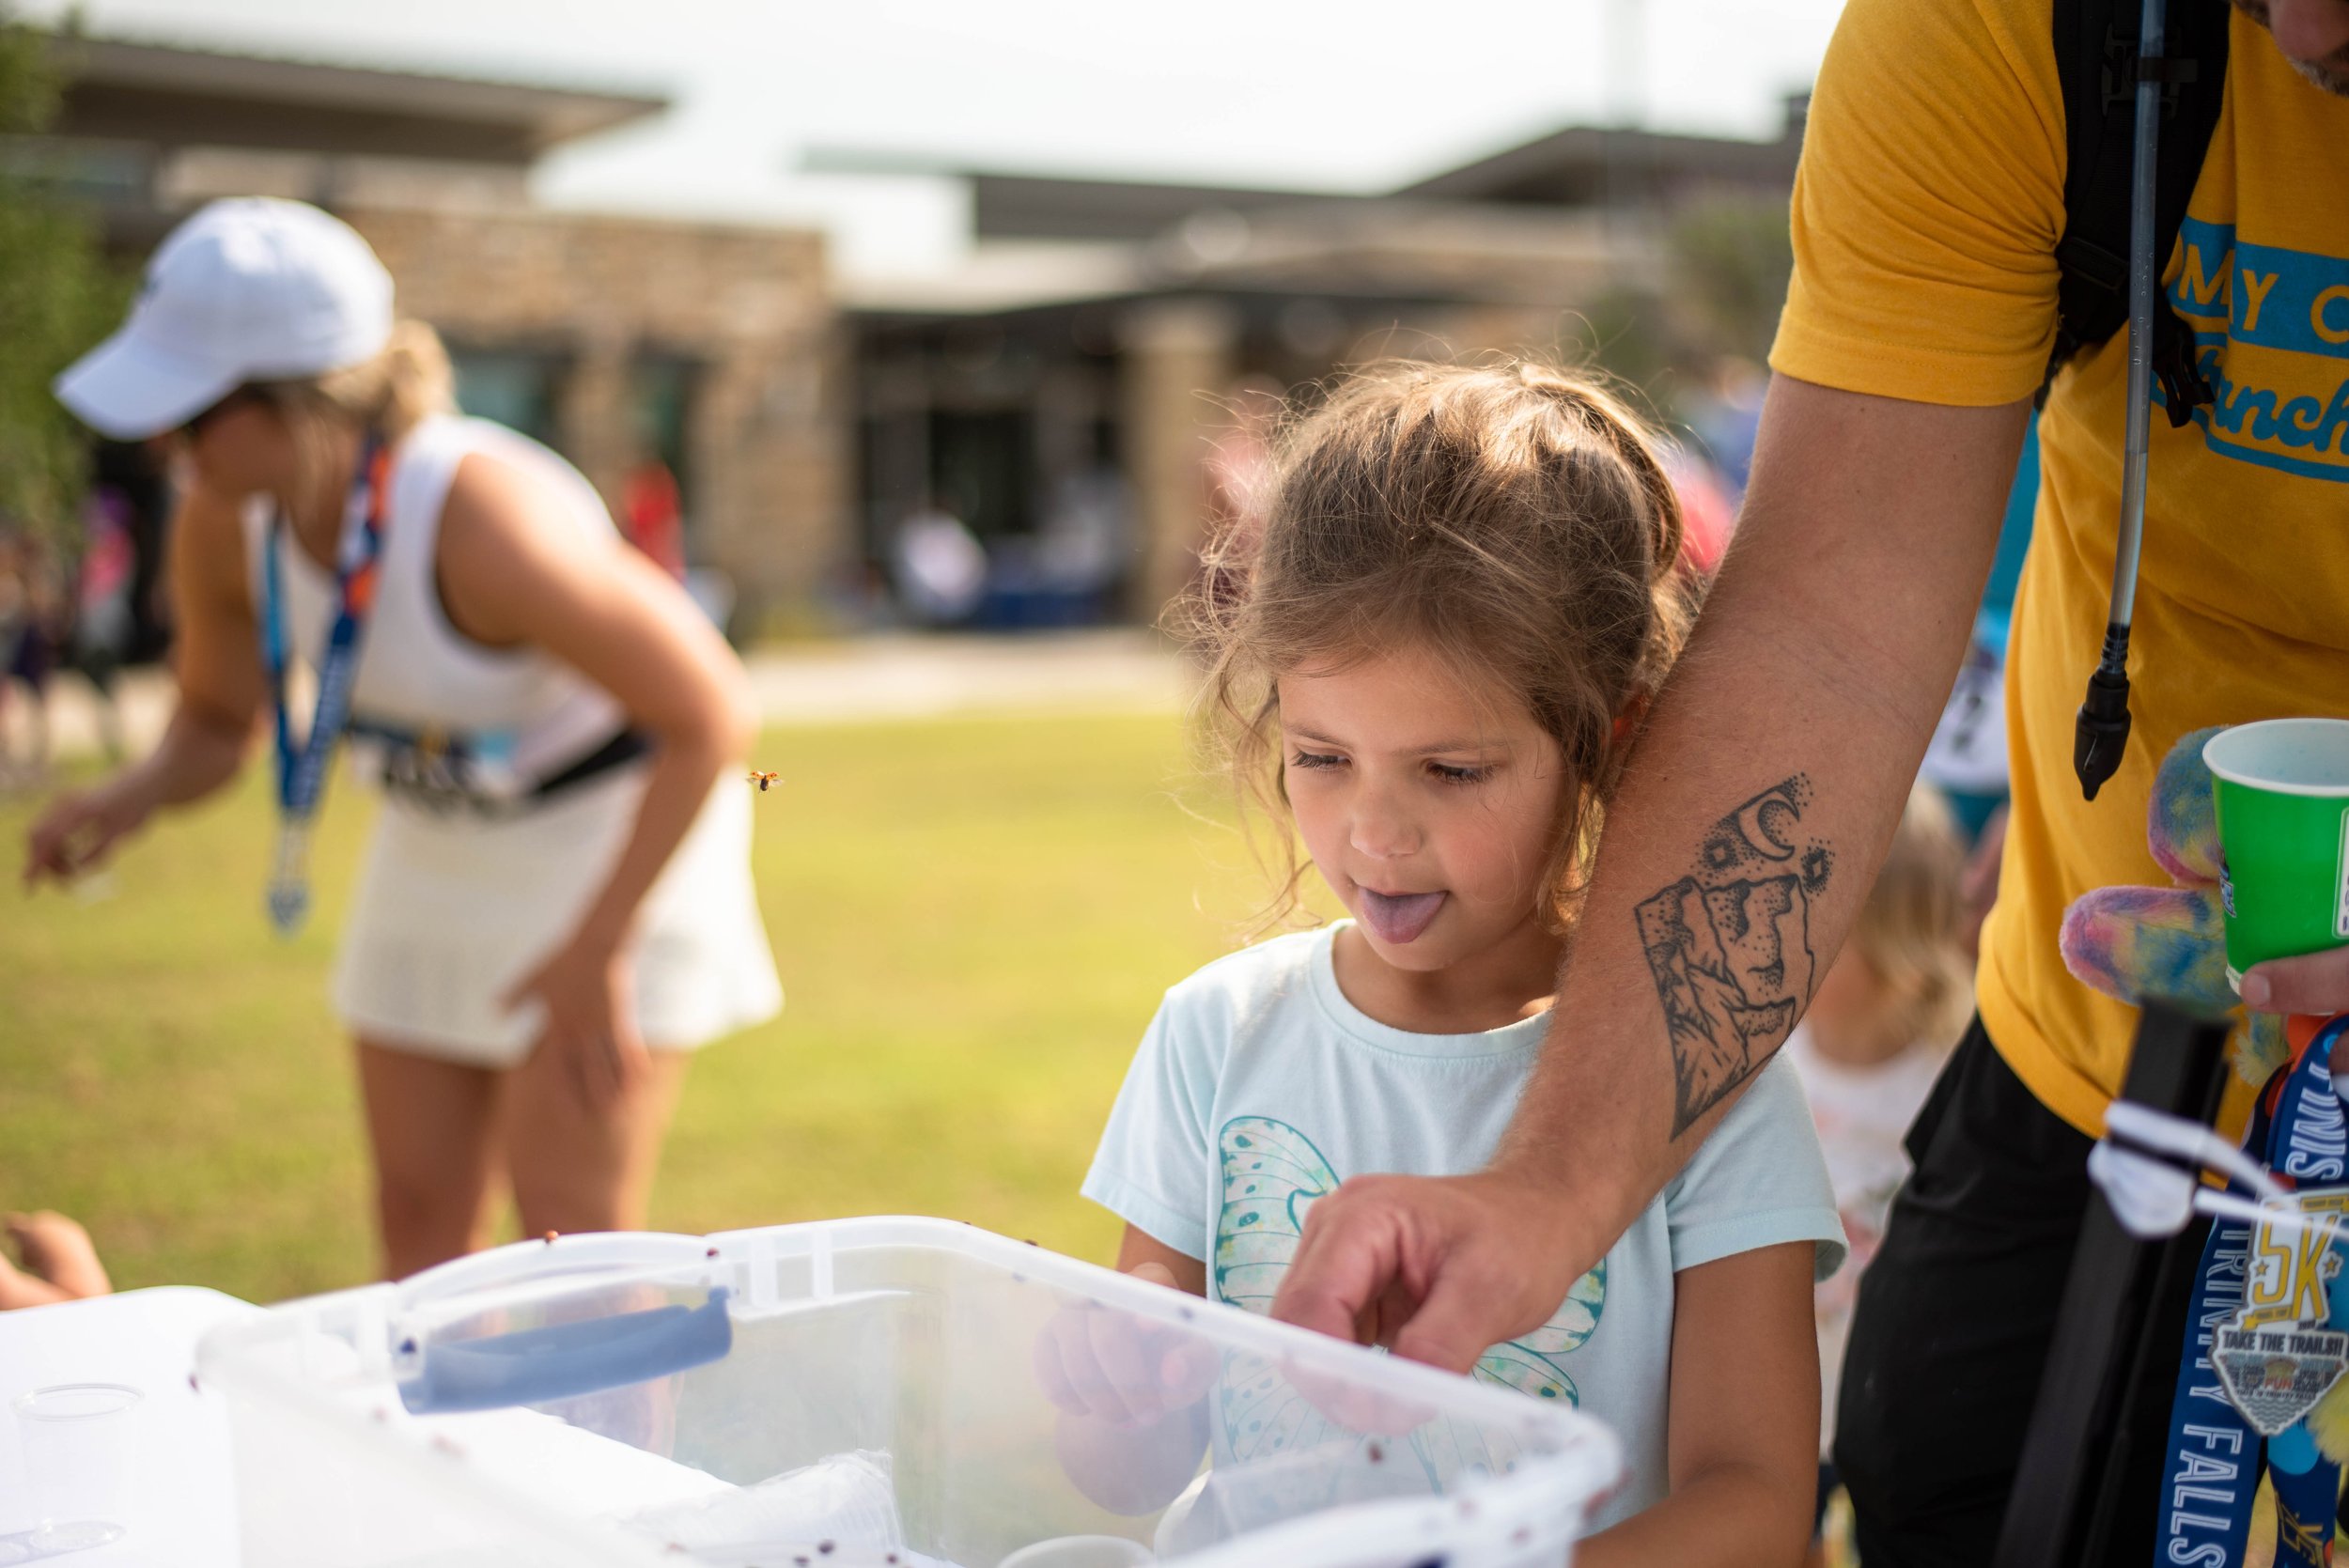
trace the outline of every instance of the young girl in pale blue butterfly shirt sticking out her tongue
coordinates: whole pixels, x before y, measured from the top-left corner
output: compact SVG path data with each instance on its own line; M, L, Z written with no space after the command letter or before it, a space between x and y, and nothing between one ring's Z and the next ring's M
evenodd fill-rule
M1353 918L1167 993L1085 1178L1125 1218L1118 1268L1264 1312L1337 1183L1489 1160L1536 1054L1576 1047L1550 993L1602 803L1687 631L1677 552L1651 437L1590 383L1400 364L1297 425L1261 542L1210 573L1198 617L1238 782ZM1301 876L1292 852L1276 913ZM1579 1561L1802 1559L1811 1282L1839 1261L1811 1120L1773 1063L1548 1326L1478 1366L1621 1439L1626 1483ZM1097 1502L1149 1512L1205 1444L1219 1467L1273 1446L1174 1357L1158 1397L1099 1399L1102 1354L1062 1333L1041 1357ZM1433 1481L1480 1462L1414 1458Z

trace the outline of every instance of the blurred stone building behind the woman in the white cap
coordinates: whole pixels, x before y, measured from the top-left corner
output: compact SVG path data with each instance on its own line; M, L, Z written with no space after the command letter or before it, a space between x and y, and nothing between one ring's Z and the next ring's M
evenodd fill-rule
M59 49L54 134L9 153L63 174L117 251L146 254L211 197L317 202L449 340L470 413L578 462L622 523L674 495L688 559L747 608L808 599L853 554L822 237L529 197L547 150L667 99L132 40Z

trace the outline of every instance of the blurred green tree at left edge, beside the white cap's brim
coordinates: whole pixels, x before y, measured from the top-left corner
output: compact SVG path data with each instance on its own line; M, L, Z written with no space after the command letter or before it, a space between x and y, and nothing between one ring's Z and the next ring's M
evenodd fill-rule
M120 319L129 277L42 157L63 92L56 38L0 0L0 519L70 538L89 437L49 380Z

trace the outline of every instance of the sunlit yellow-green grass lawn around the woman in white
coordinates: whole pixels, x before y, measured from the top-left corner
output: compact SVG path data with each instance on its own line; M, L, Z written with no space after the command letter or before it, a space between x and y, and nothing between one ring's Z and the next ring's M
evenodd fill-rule
M1106 1258L1076 1197L1158 993L1261 897L1172 718L770 730L756 876L785 1014L707 1049L653 1202L667 1230L944 1214ZM265 772L78 897L14 887L0 800L0 1207L63 1209L117 1286L251 1300L369 1277L348 1045L327 1009L369 803L338 779L317 915L261 913Z

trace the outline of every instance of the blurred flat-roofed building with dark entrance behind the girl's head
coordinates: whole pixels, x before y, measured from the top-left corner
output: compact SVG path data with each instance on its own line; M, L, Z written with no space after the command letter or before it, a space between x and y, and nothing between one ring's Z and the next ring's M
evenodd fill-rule
M817 153L824 171L958 178L972 209L956 270L843 284L867 559L886 575L907 519L944 509L1024 587L1069 507L1113 481L1128 540L1106 594L1055 596L1041 573L996 613L1106 596L1149 620L1196 570L1250 387L1379 354L1569 350L1595 298L1661 275L1677 211L1783 211L1802 110L1773 141L1571 127L1379 195Z

